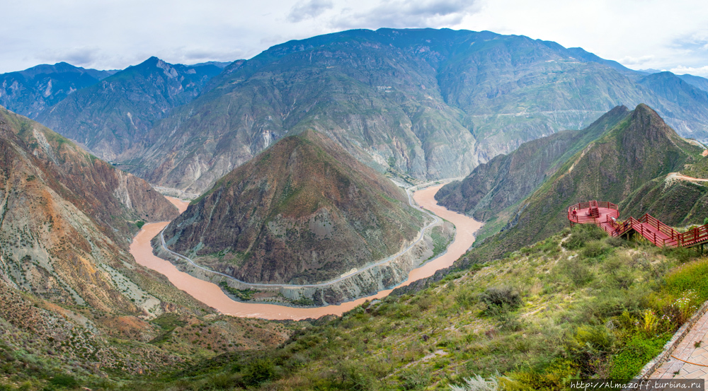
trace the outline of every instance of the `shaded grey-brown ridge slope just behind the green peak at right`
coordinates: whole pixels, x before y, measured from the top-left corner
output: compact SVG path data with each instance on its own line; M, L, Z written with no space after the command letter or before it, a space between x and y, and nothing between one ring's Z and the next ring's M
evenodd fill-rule
M567 130L521 144L512 153L478 165L462 181L435 194L447 209L487 221L531 194L576 152L614 127L629 110L617 106L583 130Z

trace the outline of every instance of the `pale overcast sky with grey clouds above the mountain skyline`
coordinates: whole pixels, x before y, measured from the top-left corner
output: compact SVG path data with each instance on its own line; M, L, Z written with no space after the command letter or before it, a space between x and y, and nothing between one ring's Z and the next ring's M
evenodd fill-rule
M350 28L490 30L583 47L632 69L708 76L708 1L0 0L0 73L248 59Z

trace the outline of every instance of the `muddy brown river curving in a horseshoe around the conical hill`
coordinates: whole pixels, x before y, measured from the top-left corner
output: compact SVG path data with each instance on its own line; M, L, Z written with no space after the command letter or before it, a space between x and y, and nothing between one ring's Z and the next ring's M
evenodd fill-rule
M440 187L442 187L442 185L418 190L413 194L413 199L415 199L419 205L423 206L423 208L433 212L433 214L445 218L445 220L455 224L455 240L449 247L447 247L447 252L445 252L444 255L441 255L440 257L433 259L433 261L418 267L418 269L411 270L408 275L408 280L404 281L404 283L399 286L406 286L411 284L413 281L432 276L439 269L452 265L452 263L464 254L469 246L472 245L474 242L474 232L482 226L482 224L479 221L474 220L474 218L469 218L463 214L449 211L438 205L438 202L435 201L433 196L436 192L438 192ZM167 199L177 206L180 213L187 209L187 202L183 202L173 197L167 197ZM145 224L142 227L142 230L135 235L135 238L130 245L130 253L133 257L135 257L137 263L164 274L177 288L180 288L190 294L193 298L200 300L202 303L215 308L220 313L239 317L260 317L270 320L302 320L308 317L316 318L323 315L341 315L342 313L346 313L348 310L355 308L357 305L364 303L365 300L384 298L392 291L392 289L387 291L379 291L379 293L375 295L360 298L358 300L348 301L340 305L327 305L326 307L318 308L293 308L285 305L241 303L239 301L234 301L226 296L226 294L222 292L221 288L219 288L216 284L200 280L185 272L180 272L173 264L171 264L171 262L156 257L152 254L150 240L152 240L152 238L154 238L155 235L157 235L168 223L169 222L164 221L162 223Z

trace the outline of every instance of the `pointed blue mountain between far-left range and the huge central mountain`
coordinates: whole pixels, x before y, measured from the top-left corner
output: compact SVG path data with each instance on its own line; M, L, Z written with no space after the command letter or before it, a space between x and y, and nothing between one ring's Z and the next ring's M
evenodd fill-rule
M139 150L145 133L174 107L197 96L222 69L184 66L151 57L100 83L76 91L38 116L38 121L74 139L105 160Z

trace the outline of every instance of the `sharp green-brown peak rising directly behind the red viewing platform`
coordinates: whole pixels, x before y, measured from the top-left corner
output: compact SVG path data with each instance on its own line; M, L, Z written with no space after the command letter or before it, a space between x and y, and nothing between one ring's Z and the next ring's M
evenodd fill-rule
M472 256L501 255L547 238L567 224L569 205L589 199L622 204L652 180L700 161L701 153L702 148L678 136L649 106L638 105L619 124L566 161L522 202L505 230L486 240ZM647 202L645 206L659 205ZM654 213L651 208L641 213L647 212Z

